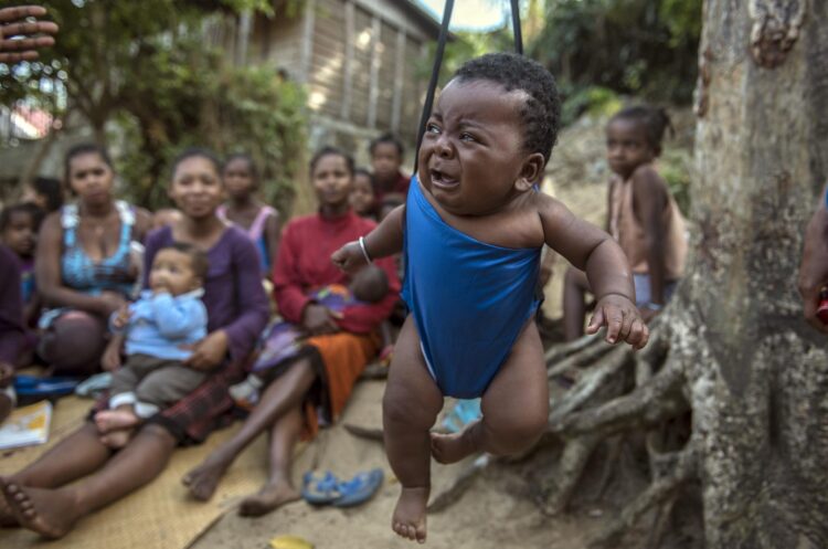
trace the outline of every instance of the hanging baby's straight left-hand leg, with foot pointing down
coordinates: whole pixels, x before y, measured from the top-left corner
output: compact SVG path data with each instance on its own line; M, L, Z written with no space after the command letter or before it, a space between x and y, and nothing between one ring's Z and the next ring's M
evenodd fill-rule
M400 332L382 401L385 452L403 489L394 509L393 530L425 541L425 506L431 488L428 430L443 408L443 394L428 373L420 336L408 317Z

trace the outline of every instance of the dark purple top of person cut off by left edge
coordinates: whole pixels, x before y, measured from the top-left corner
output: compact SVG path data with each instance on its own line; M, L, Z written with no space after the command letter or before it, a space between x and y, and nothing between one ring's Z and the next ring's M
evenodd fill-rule
M0 362L13 365L26 346L23 298L20 293L20 262L0 245Z

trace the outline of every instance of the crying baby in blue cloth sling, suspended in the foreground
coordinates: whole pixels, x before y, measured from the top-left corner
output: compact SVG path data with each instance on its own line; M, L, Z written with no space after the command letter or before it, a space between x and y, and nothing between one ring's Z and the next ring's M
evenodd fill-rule
M609 235L537 191L558 135L552 75L513 54L464 64L431 113L417 177L401 205L332 260L350 271L404 246L412 314L383 399L385 448L402 493L392 528L425 541L431 455L513 454L546 427L549 390L534 324L541 249L585 268L598 296L590 323L606 339L647 342L624 252ZM444 395L482 395L482 418L431 434Z

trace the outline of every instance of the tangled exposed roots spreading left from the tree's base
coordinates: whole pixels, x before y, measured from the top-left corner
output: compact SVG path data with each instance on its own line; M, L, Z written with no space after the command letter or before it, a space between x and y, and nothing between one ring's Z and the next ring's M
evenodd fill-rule
M618 468L626 435L636 429L652 429L688 410L683 398L684 365L670 356L672 336L668 320L652 325L650 344L641 352L612 347L597 336L586 337L546 352L549 378L574 371L574 384L551 404L549 432L564 441L564 450L543 482L541 507L554 515L569 506L595 448L609 440L598 494L606 490ZM671 441L675 436L669 437ZM655 549L664 537L679 487L697 474L697 443L678 452L659 453L647 439L651 484L629 503L591 541L590 547L609 547L654 507L656 516L647 540ZM676 443L673 442L673 447Z

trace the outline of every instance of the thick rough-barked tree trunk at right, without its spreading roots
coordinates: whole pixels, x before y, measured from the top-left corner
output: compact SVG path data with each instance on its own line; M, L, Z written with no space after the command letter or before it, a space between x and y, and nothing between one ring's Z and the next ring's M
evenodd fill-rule
M825 548L828 341L802 317L796 273L828 176L828 2L704 9L700 239L671 347L687 349L708 547Z

